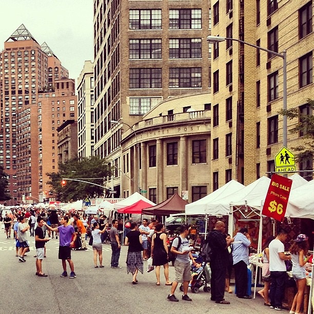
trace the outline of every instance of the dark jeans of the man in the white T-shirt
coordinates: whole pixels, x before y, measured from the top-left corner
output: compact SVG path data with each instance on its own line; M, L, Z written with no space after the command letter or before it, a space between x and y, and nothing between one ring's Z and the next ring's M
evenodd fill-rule
M287 272L286 271L271 271L270 272L270 304L274 307L282 306L286 286Z

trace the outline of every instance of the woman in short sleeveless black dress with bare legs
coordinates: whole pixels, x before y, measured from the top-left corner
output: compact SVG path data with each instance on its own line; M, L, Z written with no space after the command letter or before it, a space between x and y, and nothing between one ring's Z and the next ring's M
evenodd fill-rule
M152 265L155 267L157 282L160 286L160 266L164 266L164 274L166 279L166 286L171 286L169 281L169 264L168 264L168 247L167 234L163 233L164 225L159 223L155 226L155 233L151 238L151 257L153 259Z

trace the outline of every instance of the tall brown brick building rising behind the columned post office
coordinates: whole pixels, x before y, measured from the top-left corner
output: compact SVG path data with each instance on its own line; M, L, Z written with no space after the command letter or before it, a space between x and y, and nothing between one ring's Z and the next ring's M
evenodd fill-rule
M210 1L94 0L93 23L94 151L121 170L120 141L129 126L168 97L209 90ZM112 120L123 123L112 127ZM141 186L136 178L131 193Z

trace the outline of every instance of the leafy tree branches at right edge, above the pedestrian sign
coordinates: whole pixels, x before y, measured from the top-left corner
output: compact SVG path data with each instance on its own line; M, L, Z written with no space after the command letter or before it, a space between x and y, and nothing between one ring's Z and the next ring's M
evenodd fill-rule
M304 144L292 147L294 151L297 151L296 161L298 162L306 162L311 160L313 157L314 151L314 116L312 114L314 110L314 101L308 99L307 104L310 109L310 114L301 114L299 107L292 108L289 110L280 111L281 115L286 115L287 119L293 120L295 118L299 119L299 122L289 130L291 133L303 133Z

